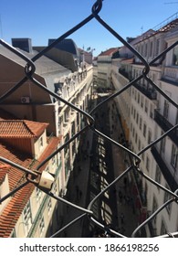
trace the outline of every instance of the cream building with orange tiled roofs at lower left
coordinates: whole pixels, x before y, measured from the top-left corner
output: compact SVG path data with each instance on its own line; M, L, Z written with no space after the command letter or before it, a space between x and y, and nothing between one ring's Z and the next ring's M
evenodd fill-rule
M0 119L1 156L17 165L34 170L47 155L58 148L60 138L47 137L48 123L37 123L28 120ZM1 115L2 116L2 115ZM0 164L0 197L19 187L26 180L26 173L13 165ZM60 155L54 156L39 172L43 171L56 176L53 192L59 194L61 175ZM28 183L13 197L8 197L0 205L0 237L46 237L48 230L58 227L57 219L51 218L58 211L57 201L48 197L33 183Z

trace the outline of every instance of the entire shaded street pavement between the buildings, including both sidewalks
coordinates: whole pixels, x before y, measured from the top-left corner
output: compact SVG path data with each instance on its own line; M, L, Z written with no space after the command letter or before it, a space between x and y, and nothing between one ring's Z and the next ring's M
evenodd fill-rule
M107 109L102 108L102 112L99 111L96 116L97 122L100 119L102 123L99 131L118 141L122 130L115 105L110 101L105 107ZM100 189L110 184L114 177L120 176L126 169L125 153L114 144L103 141L91 130L83 134L81 143L80 153L68 181L67 199L82 208L87 208L90 200L98 195ZM94 216L110 229L131 237L131 233L138 226L138 216L131 199L128 178L123 177L93 205ZM83 212L76 208L67 207L63 226L82 214ZM61 233L61 237L67 238L98 236L104 237L104 231L91 225L87 217L79 219Z

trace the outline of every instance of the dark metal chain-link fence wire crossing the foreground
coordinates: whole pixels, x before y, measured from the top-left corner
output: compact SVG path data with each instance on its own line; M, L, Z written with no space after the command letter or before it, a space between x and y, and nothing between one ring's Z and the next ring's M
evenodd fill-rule
M40 89L47 91L47 93L49 93L51 96L53 96L54 98L56 98L58 101L62 101L64 102L66 105L68 105L69 107L71 107L71 109L79 112L81 115L83 115L83 117L86 120L87 125L82 128L78 133L74 134L73 137L71 139L69 139L67 142L65 142L64 144L62 144L58 150L54 151L53 154L48 155L47 158L40 164L37 166L37 170L31 170L31 169L27 169L21 165L17 165L16 163L9 161L8 159L4 158L4 157L0 157L0 161L8 164L8 165L12 165L16 168L18 168L19 170L21 170L22 172L24 172L26 174L26 181L22 184L20 184L18 187L16 187L13 191L11 191L10 193L8 193L5 197L2 197L0 199L0 203L2 203L7 197L11 197L13 196L18 190L20 190L22 187L26 187L26 185L30 182L34 183L37 187L39 187L38 183L36 182L37 178L40 178L41 176L41 172L39 171L39 169L47 164L47 162L52 159L52 157L54 157L55 155L57 155L59 152L61 152L61 150L63 150L65 147L68 146L68 144L71 144L76 138L78 138L82 133L86 132L86 131L92 131L92 133L94 133L96 136L99 136L101 138L103 138L105 141L109 142L110 144L114 144L115 146L117 146L118 148L120 148L120 150L122 150L123 152L127 153L130 156L130 165L129 167L121 173L120 176L117 176L116 178L114 178L110 184L105 187L103 190L101 190L99 192L99 194L97 196L95 196L90 202L89 202L89 206L87 208L81 208L79 207L77 204L73 204L71 202L69 202L67 199L63 198L63 197L58 197L57 195L55 195L54 193L51 192L50 189L45 189L43 187L39 187L42 191L44 191L48 196L50 197L54 197L55 199L57 199L58 201L68 205L71 208L77 208L79 209L79 211L81 212L81 214L79 214L79 216L75 219L73 219L71 222L68 222L68 224L66 226L64 226L62 229L59 229L55 234L53 234L51 237L58 237L58 235L64 231L65 229L68 229L69 227L71 227L74 223L80 221L81 219L84 219L86 217L88 217L89 219L89 223L92 223L92 225L98 227L99 229L103 230L103 234L105 234L105 236L111 236L111 237L125 237L121 232L118 232L118 230L114 230L114 229L110 229L109 226L104 225L103 223L99 222L99 220L97 218L95 218L95 214L92 211L92 207L94 206L94 204L97 202L97 200L99 200L105 192L109 191L110 188L114 187L121 178L123 178L124 176L127 176L129 173L131 172L136 172L138 176L141 176L142 178L147 179L149 182L151 182L154 186L156 187L160 187L160 189L162 189L163 191L165 191L166 193L169 194L169 200L167 200L165 203L162 204L162 206L160 208L157 208L152 215L147 218L146 220L144 220L140 226L138 226L131 234L131 237L137 237L140 234L140 231L143 227L145 227L147 224L149 224L149 222L152 221L152 219L154 219L157 215L159 215L159 213L162 211L162 209L166 208L168 205L172 204L173 202L177 203L178 202L178 189L176 191L171 191L170 189L166 188L166 187L162 187L161 184L157 183L155 180L152 179L152 177L145 175L141 169L140 169L140 163L141 163L141 155L144 154L146 151L148 151L149 149L152 148L152 146L154 144L159 143L165 136L168 136L170 133L173 133L177 127L178 124L174 125L172 129L168 130L166 133L163 133L162 136L160 136L159 138L157 138L156 140L154 140L151 144L148 144L146 147L144 147L143 149L141 149L141 151L138 154L133 153L129 148L125 147L123 144L120 144L118 142L116 142L115 140L111 139L110 136L106 135L105 133L102 133L102 131L100 131L99 129L96 128L96 121L97 121L97 117L95 115L95 113L101 108L103 107L105 104L107 104L109 101L115 99L116 97L119 97L120 94L124 91L127 91L131 88L132 85L134 85L134 83L138 82L141 79L147 80L152 87L158 91L159 93L162 94L162 96L169 101L170 103L173 104L173 106L175 108L178 109L178 104L173 101L173 99L171 97L169 97L167 94L165 94L164 91L162 91L162 89L155 84L150 78L149 78L149 71L150 71L150 67L152 64L154 64L156 62L156 60L162 58L162 56L165 56L165 54L167 52L169 52L172 48L174 48L178 42L174 43L171 47L166 48L164 51L162 51L162 53L160 55L158 55L157 57L155 57L154 59L152 59L152 61L150 63L148 63L142 56L141 54L131 46L131 44L129 44L125 39L123 39L122 37L120 37L120 35L113 30L107 23L105 23L105 21L103 19L100 18L99 16L99 11L102 8L102 0L98 0L96 1L96 3L92 6L92 11L91 14L86 17L84 20L82 20L78 25L76 25L75 27L71 28L70 30L68 30L68 32L66 32L64 35L62 35L61 37L58 37L58 39L56 39L52 44L50 44L49 46L47 46L47 48L44 48L42 51L40 51L39 53L37 53L37 55L35 57L33 57L32 59L28 59L22 52L18 51L16 48L13 48L12 46L10 46L9 44L7 44L4 40L0 40L0 44L3 45L5 48L9 49L10 51L12 51L13 53L16 54L16 56L20 57L21 59L24 59L26 61L26 67L24 67L25 69L25 76L19 80L16 85L11 88L9 91L5 92L4 95L2 95L0 97L0 102L3 103L3 101L12 93L14 93L18 88L20 88L27 80L31 80L33 83L35 83L37 85L37 87L39 87ZM137 78L135 78L134 80L131 80L131 82L129 82L128 84L126 84L124 87L121 88L120 91L116 91L113 94L111 94L108 98L105 98L104 101L100 101L90 112L85 112L83 110L81 110L79 107L77 107L76 105L72 104L69 101L66 101L65 99L61 98L57 93L55 93L54 91L50 91L49 89L47 89L47 87L45 87L41 82L39 82L35 77L35 71L36 71L36 61L37 59L41 58L42 56L44 56L48 50L50 50L51 48L54 48L58 42L60 42L61 40L65 39L66 37L70 36L71 34L73 34L75 31L77 31L80 27L85 26L86 24L89 23L90 20L92 19L96 19L99 24L102 27L105 27L108 31L110 31L110 34L114 37L116 37L125 47L129 48L131 50L131 52L141 60L142 65L144 66L144 69L142 69L142 73L140 76L138 76ZM9 70L10 71L10 70ZM33 88L31 88L31 90L33 90ZM178 234L178 231L172 234L165 234L162 237L174 237Z

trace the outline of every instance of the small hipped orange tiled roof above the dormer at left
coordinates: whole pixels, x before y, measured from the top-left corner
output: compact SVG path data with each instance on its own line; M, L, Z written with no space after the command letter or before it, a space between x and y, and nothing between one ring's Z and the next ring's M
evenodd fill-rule
M37 137L47 128L48 123L28 120L0 120L0 138Z

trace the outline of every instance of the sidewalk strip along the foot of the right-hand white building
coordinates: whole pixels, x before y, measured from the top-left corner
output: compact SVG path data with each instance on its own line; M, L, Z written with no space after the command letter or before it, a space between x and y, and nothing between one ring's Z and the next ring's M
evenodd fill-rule
M116 109L110 102L110 133L111 138L116 142L119 142L119 135L122 133L122 128L120 125L120 120L116 113ZM125 164L125 152L118 146L112 144L112 158L115 178L120 176L126 169ZM133 198L130 191L130 186L128 183L128 177L124 176L116 184L117 191L117 211L118 211L118 226L120 227L120 233L131 237L134 229L137 228L138 216L134 211Z

